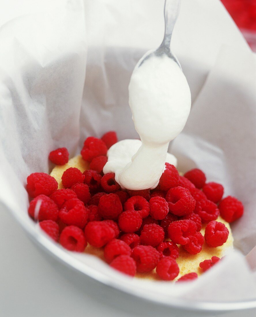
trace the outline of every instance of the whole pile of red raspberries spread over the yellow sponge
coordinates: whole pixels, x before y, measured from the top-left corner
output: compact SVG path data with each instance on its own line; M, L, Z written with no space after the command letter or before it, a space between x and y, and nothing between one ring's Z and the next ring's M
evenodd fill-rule
M57 189L55 178L46 173L30 174L29 215L70 251L83 252L89 243L104 248L106 262L125 274L156 268L160 279L173 280L179 274L178 244L190 254L199 253L204 242L213 248L223 245L229 231L216 219L221 215L227 222L235 221L242 216L243 205L231 196L222 199L223 186L206 183L199 169L180 176L169 163L154 190L123 190L114 173L102 172L108 148L116 142L113 131L101 139L87 138L81 155L90 162L90 170L68 168L62 175L63 189ZM49 159L64 165L69 152L57 149ZM207 223L204 236L202 223ZM219 260L213 256L200 268L206 271ZM193 272L180 280L195 278Z

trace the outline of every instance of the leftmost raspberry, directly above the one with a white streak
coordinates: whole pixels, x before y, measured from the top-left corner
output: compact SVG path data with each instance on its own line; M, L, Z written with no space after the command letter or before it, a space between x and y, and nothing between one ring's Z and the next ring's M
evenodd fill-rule
M58 183L56 179L46 173L32 173L27 177L27 191L30 197L38 195L49 196L56 191Z

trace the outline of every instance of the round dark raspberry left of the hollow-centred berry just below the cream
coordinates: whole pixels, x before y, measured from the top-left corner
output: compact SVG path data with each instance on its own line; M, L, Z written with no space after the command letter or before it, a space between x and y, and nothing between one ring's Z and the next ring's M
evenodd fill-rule
M98 212L104 219L115 219L123 210L119 197L115 194L107 194L100 198Z

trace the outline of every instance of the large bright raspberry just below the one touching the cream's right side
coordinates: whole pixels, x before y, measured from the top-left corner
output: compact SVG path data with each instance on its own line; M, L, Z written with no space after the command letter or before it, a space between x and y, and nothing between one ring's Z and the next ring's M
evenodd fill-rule
M166 201L170 212L176 216L184 216L195 208L195 200L187 188L178 186L168 190Z

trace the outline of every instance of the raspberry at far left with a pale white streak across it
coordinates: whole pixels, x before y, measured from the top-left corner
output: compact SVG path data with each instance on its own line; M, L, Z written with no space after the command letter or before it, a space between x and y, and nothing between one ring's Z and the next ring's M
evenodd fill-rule
M28 212L30 217L38 221L58 219L57 205L45 195L39 195L31 200Z

